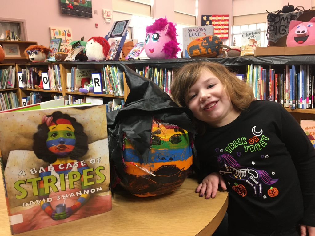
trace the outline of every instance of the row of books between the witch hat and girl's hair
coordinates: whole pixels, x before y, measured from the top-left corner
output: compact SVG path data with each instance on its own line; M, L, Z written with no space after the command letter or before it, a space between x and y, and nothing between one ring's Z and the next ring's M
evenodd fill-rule
M152 80L157 84L165 93L171 93L171 83L174 74L174 69L157 68L146 66L142 69L136 68L136 72L141 76Z

